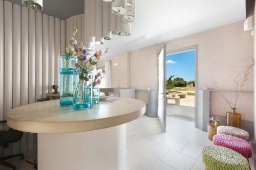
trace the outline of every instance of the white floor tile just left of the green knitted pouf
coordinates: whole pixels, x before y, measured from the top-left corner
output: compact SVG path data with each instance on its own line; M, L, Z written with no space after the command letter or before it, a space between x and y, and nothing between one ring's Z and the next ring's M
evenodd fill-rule
M190 158L197 159L201 155L203 148L203 145L189 142L186 147L181 150L180 153Z

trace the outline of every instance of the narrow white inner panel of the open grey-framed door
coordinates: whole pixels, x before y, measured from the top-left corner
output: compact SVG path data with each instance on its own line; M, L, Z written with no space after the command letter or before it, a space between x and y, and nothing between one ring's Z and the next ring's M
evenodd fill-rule
M164 49L161 50L158 58L158 117L163 123L164 118L164 100L163 100L163 92L164 92Z

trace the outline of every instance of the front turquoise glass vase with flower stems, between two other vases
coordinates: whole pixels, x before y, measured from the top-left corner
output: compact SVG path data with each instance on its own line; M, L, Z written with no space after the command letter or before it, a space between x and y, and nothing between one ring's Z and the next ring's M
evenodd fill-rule
M92 72L75 70L73 74L73 109L90 109L93 107Z

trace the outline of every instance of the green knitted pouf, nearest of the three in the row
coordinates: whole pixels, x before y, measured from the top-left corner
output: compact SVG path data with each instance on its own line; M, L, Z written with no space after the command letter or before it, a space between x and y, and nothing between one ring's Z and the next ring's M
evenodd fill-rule
M212 145L204 147L203 162L210 170L249 170L249 163L241 154L228 148Z

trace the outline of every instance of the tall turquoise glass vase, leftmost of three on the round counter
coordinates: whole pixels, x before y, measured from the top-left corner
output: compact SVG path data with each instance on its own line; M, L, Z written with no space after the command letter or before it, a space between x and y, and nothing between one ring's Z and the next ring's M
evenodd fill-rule
M60 90L59 105L73 105L73 72L76 63L76 57L63 55L60 56L59 74L60 74Z

